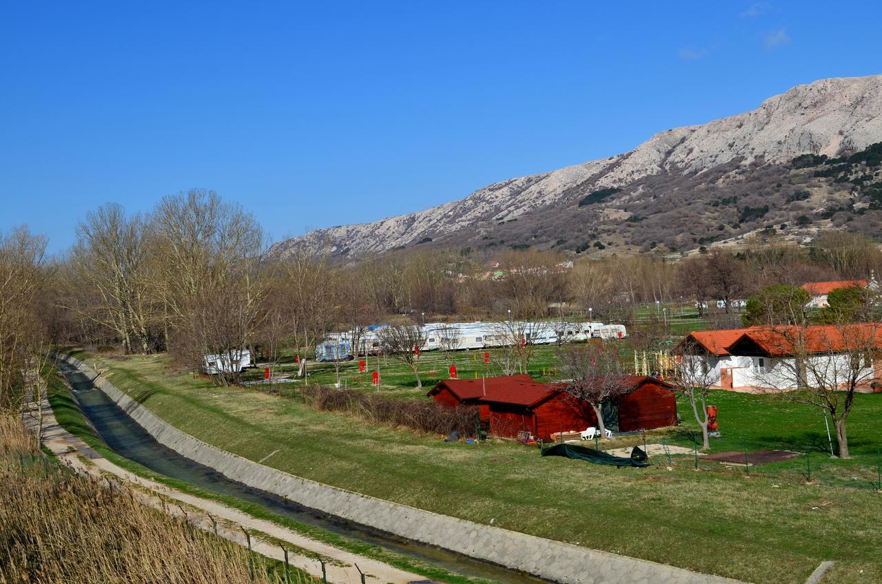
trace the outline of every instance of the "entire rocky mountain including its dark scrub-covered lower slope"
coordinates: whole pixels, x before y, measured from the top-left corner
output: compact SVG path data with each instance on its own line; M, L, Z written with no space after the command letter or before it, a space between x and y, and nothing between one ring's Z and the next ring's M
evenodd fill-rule
M872 191L878 180L875 159L835 176L793 161L812 154L809 162L830 167L878 142L882 75L823 79L744 114L663 131L628 153L490 184L418 213L319 229L273 251L305 245L355 257L454 244L682 252L781 222L811 232L854 221L836 213L871 213L863 221L869 225L878 210L859 199L861 188ZM854 226L872 230L860 223Z

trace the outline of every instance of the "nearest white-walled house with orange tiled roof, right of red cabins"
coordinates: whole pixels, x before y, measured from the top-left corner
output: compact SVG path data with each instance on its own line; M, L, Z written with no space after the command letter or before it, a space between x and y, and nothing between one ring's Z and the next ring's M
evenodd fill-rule
M681 341L675 352L681 355L680 366L705 375L712 386L720 389L790 390L796 389L798 379L812 385L844 386L848 376L854 374L858 385L871 391L871 384L882 379L879 350L882 324L863 323L696 332Z

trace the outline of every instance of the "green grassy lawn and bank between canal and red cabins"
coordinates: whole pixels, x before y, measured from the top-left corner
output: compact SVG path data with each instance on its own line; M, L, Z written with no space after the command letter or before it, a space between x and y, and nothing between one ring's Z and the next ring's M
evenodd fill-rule
M831 581L882 580L882 495L870 486L882 446L882 395L858 396L850 422L855 459L842 461L823 453L818 411L773 397L714 393L723 433L715 452L810 446L814 482L806 484L802 456L751 468L750 475L710 461L696 472L691 455L676 456L670 470L658 457L652 468L617 470L543 459L534 448L503 440L445 444L317 412L297 399L212 387L171 371L165 356L87 361L109 368L112 383L183 431L251 460L279 449L265 464L322 483L739 580L801 583L826 559L840 561ZM475 371L482 366L475 363ZM390 387L380 391L417 393L393 389L390 377L384 373ZM682 405L681 416L683 425L649 439L664 435L691 445L694 423Z

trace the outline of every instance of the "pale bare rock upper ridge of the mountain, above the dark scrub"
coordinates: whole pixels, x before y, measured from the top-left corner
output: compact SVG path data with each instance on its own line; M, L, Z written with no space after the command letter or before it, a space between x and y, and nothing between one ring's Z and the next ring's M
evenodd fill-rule
M820 79L769 97L748 112L658 132L626 153L491 183L415 213L318 229L276 243L273 252L285 255L303 245L355 257L450 239L466 229L485 237L493 231L489 226L572 206L592 191L628 187L651 176L699 175L735 160L739 168L751 168L804 153L833 157L878 141L882 75Z

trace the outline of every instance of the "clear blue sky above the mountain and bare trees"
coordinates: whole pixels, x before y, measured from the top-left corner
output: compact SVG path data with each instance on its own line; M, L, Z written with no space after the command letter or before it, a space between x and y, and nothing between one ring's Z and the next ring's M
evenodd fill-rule
M0 231L205 187L273 237L882 72L877 2L4 3Z

